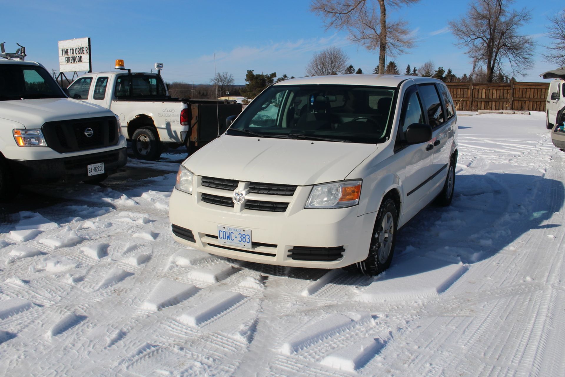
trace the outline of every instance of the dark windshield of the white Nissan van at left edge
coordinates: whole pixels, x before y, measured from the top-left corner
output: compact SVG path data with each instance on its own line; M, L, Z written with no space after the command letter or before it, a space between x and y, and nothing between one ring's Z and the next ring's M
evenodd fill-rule
M0 64L0 101L64 97L59 85L44 68Z

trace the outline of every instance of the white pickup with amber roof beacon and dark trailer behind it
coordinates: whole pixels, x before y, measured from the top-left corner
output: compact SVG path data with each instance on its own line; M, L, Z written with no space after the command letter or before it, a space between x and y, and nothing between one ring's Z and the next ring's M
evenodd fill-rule
M214 140L225 131L225 118L241 112L237 103L171 98L159 72L87 73L69 85L69 96L112 110L134 156L150 161L167 147L194 150Z

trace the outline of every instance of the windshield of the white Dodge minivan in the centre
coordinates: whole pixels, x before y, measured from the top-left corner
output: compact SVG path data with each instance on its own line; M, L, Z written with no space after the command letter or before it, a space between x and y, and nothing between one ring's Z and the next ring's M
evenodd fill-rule
M227 135L377 144L387 140L396 88L273 85L255 98Z

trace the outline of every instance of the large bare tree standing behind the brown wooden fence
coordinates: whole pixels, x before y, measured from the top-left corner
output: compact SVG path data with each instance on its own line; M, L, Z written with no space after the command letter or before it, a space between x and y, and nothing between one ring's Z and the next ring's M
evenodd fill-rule
M506 62L512 74L523 74L521 71L532 67L532 38L518 33L531 17L525 8L510 10L512 2L473 0L461 19L449 22L451 32L469 57L486 66L488 83L492 83L494 73L505 73Z

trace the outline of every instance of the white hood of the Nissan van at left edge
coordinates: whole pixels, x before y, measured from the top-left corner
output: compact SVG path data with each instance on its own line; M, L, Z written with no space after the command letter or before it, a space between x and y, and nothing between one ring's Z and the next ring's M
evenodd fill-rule
M40 128L45 122L114 115L110 110L71 98L16 99L0 101L2 118L26 128Z

